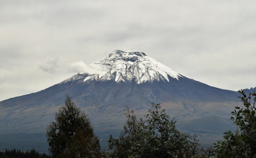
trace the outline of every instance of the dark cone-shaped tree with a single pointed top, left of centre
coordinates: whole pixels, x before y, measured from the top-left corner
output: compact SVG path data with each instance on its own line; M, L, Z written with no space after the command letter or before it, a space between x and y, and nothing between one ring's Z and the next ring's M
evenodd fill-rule
M67 95L47 129L47 142L53 158L100 157L100 142L88 116Z

